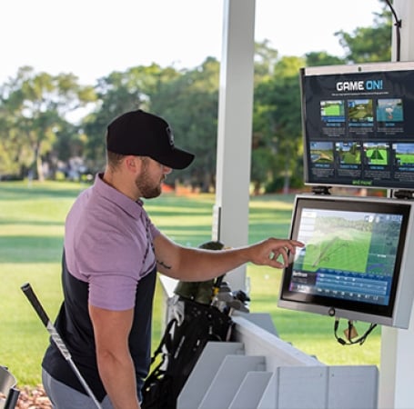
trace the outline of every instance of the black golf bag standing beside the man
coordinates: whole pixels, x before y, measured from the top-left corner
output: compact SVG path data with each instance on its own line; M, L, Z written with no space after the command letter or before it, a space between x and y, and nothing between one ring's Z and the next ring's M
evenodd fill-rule
M228 341L233 321L211 304L177 296L180 313L168 322L146 378L143 409L176 409L177 397L208 341Z

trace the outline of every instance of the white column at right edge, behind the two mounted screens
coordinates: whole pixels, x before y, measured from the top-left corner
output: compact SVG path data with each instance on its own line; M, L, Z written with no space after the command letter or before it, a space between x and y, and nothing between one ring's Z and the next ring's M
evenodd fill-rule
M402 26L400 61L414 61L414 2L394 0ZM394 17L393 17L393 23ZM397 60L397 35L393 25L392 60ZM379 368L379 409L412 409L414 403L414 306L409 329L382 327Z

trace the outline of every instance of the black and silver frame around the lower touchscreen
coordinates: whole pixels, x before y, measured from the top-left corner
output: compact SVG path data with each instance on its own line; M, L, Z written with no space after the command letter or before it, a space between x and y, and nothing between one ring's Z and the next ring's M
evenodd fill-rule
M412 230L412 202L390 198L377 197L348 197L330 195L297 195L294 202L292 220L289 237L298 239L299 215L304 207L314 207L318 209L335 209L344 211L363 211L385 214L402 214L403 221L399 238L399 248L397 251L394 274L392 276L389 304L380 305L374 303L362 303L349 301L335 297L318 296L314 294L303 294L289 291L289 284L292 276L293 256L290 256L288 267L283 270L278 306L309 313L324 314L329 316L347 318L349 320L364 321L372 324L385 324L390 326L408 327L407 311L403 311L404 317L397 317L400 312L399 297L401 296L401 282L406 277L402 277L406 264L411 243L409 229ZM412 256L411 256L412 258ZM412 290L406 289L409 294L403 294L401 302L409 299L412 303ZM404 307L403 309L407 309Z

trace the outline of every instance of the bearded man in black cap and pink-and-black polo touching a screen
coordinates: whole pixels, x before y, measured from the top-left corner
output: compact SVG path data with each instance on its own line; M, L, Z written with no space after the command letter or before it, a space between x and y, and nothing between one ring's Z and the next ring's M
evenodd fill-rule
M194 155L174 145L164 119L141 110L108 125L106 150L105 173L66 218L56 329L102 407L136 409L149 369L157 271L205 281L248 262L282 268L302 244L269 238L226 251L175 244L151 223L141 198L160 195L172 169L187 167ZM96 407L55 344L42 366L54 407Z

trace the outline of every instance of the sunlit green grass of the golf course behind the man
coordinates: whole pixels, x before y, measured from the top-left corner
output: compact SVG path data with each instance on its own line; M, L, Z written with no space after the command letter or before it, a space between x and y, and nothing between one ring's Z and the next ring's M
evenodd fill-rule
M54 319L62 301L60 258L66 213L86 185L72 183L0 183L0 364L19 385L40 383L40 362L48 334L20 286L32 284L45 311ZM268 235L285 237L293 195L253 197L249 241ZM162 195L146 209L164 233L180 244L197 246L210 240L214 195ZM271 314L279 336L326 364L379 364L380 330L363 346L342 346L333 336L333 320L277 306L281 272L247 266L251 312ZM163 305L157 285L153 345L160 339ZM360 334L366 325L357 323ZM340 334L342 335L342 333Z

